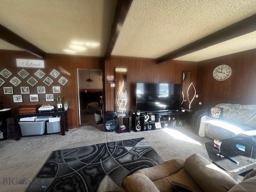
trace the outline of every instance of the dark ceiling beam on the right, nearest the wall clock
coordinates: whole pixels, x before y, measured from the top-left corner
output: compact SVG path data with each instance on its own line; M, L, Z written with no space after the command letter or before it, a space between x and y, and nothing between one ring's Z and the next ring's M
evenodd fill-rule
M175 59L198 50L202 50L209 46L248 34L256 31L256 14L234 23L226 28L218 30L204 38L196 40L177 50L174 50L164 56L157 58L157 63L161 63L170 59Z

